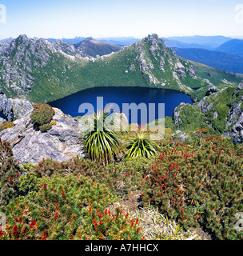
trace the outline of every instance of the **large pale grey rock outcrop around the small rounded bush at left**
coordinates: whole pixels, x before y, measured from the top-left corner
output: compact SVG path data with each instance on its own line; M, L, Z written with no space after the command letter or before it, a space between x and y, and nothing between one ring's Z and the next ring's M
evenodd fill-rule
M38 163L42 158L58 162L68 161L77 155L82 157L80 126L78 120L55 109L53 122L56 123L45 133L37 130L30 122L31 110L14 121L14 127L0 133L2 140L13 146L14 158L20 164Z

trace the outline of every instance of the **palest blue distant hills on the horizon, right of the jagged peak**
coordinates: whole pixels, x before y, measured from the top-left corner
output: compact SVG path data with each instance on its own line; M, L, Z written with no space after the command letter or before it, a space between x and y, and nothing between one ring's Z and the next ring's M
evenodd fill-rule
M169 40L176 40L179 42L185 42L189 44L197 44L204 46L208 50L213 50L221 44L231 40L232 38L226 38L224 36L188 36L188 37L169 37Z

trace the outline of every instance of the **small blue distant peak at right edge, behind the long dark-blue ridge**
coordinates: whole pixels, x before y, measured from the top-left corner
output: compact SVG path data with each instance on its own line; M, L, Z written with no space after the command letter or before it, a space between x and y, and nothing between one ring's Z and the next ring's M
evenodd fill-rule
M232 39L217 47L215 50L243 57L243 40Z

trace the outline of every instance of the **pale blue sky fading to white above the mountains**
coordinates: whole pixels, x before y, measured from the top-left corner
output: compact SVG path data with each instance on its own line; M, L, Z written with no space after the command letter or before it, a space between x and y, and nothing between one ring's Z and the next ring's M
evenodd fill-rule
M0 39L19 34L144 38L153 33L243 38L243 0L0 0Z

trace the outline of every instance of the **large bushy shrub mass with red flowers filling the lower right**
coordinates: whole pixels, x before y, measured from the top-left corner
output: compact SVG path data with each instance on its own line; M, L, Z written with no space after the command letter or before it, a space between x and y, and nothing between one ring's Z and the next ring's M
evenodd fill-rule
M193 150L181 145L162 152L145 174L143 202L187 230L201 226L213 238L241 238L233 225L243 210L243 161L233 148L229 140L209 136Z

